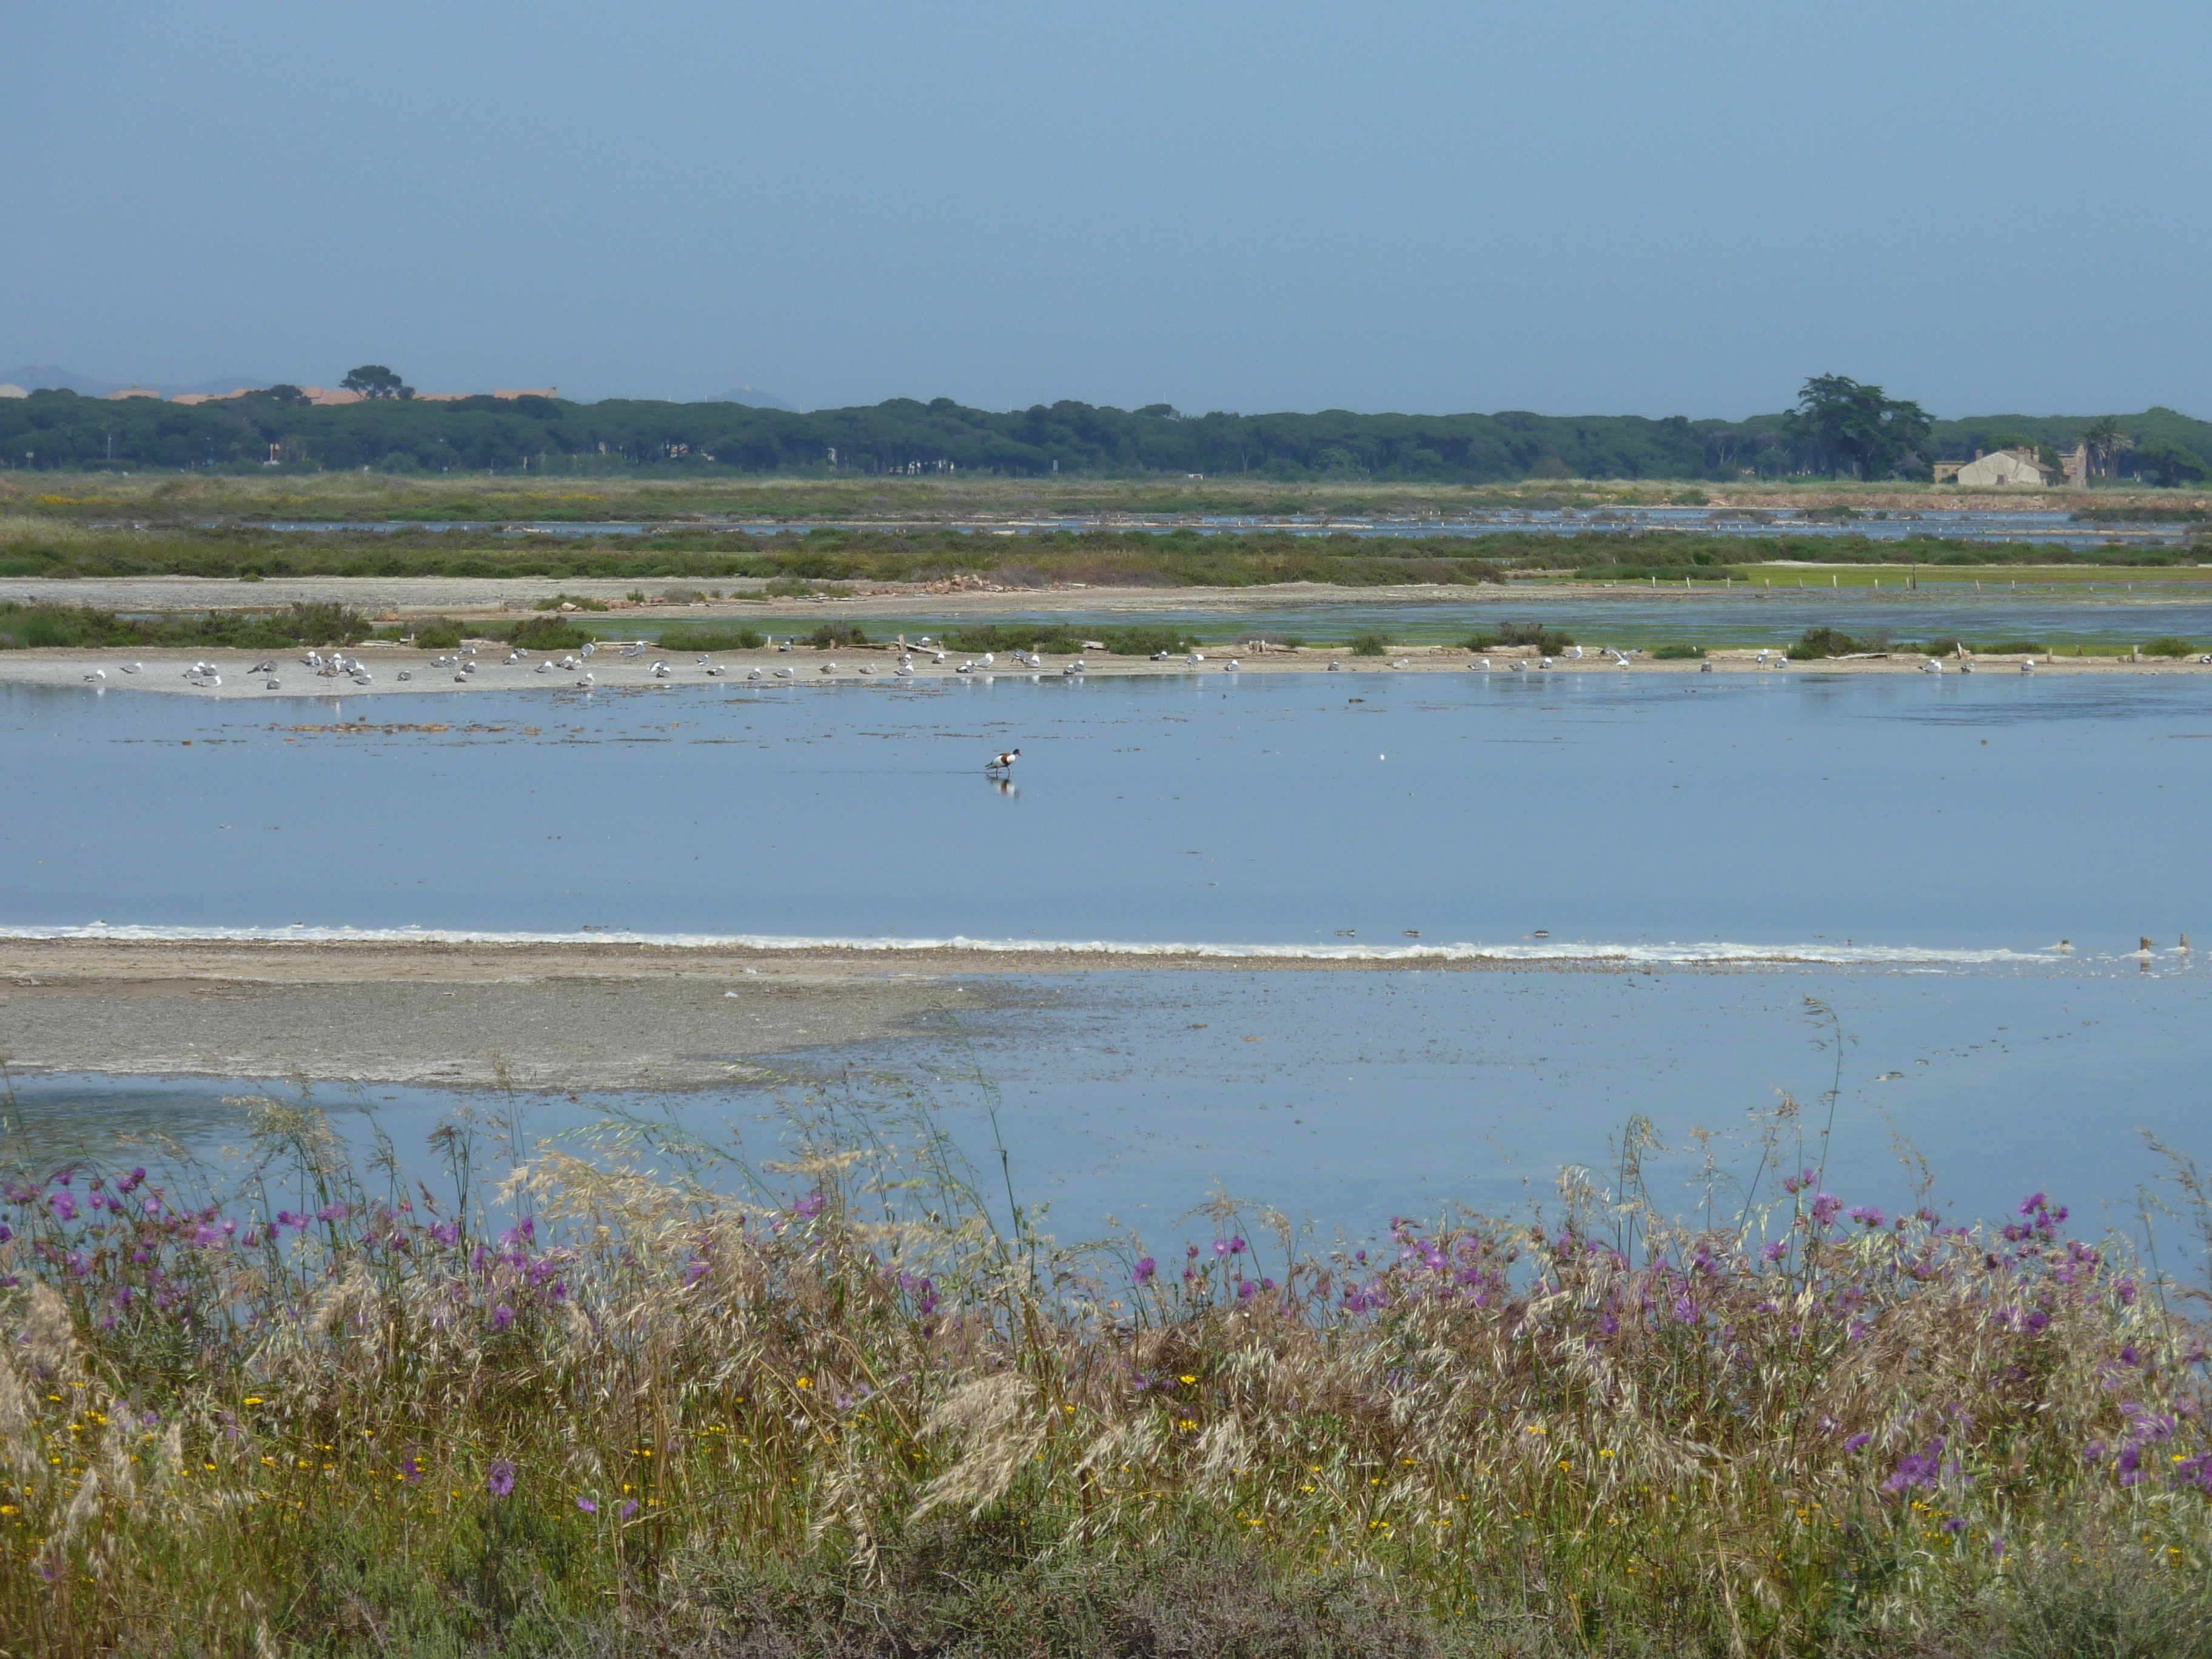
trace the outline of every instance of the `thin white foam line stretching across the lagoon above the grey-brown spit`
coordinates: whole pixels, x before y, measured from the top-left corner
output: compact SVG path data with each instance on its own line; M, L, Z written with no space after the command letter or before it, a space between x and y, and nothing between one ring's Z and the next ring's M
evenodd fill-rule
M978 956L1126 956L1208 958L1228 962L1621 962L1632 967L1701 967L1730 962L1818 962L1834 967L1993 967L2022 962L2084 960L2057 951L1933 949L1918 945L1192 945L1130 940L1037 940L1037 938L841 938L790 933L633 933L593 929L588 933L535 933L451 927L135 927L91 922L86 927L4 927L11 940L170 940L250 945L659 945L670 949L734 951L971 951Z

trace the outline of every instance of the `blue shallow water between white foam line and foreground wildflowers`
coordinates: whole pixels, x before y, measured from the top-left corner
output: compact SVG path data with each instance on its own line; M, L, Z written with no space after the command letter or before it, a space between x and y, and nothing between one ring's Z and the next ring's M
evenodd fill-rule
M2212 1152L2201 1035L2212 975L2172 964L1108 973L1031 989L1020 1011L790 1066L841 1097L887 1097L869 1082L878 1071L920 1086L1000 1212L1002 1144L1006 1181L1029 1206L1048 1201L1048 1230L1099 1237L1113 1217L1152 1245L1181 1239L1181 1217L1217 1186L1323 1237L1374 1237L1394 1214L1451 1203L1522 1212L1553 1199L1562 1166L1610 1181L1632 1115L1670 1148L1646 1159L1661 1208L1699 1208L1697 1130L1710 1130L1728 1177L1719 1203L1732 1210L1730 1181L1756 1172L1756 1119L1785 1093L1818 1161L1838 1037L1827 1186L1854 1203L1920 1203L1909 1146L1949 1217L2002 1217L2048 1188L2088 1228L2132 1228L2139 1186L2161 1175L2139 1130ZM49 1164L155 1130L212 1152L243 1139L243 1110L226 1097L261 1091L292 1093L283 1079L29 1077L15 1126ZM316 1099L356 1146L374 1121L438 1183L427 1135L462 1097L365 1086ZM783 1133L765 1088L511 1102L524 1144L580 1133L611 1104L743 1137L757 1159L774 1157Z

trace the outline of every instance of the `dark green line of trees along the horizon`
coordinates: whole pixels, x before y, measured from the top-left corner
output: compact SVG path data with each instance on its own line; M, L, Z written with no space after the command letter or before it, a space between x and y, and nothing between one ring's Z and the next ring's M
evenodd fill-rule
M374 469L389 473L821 473L1009 478L1245 476L1270 480L1511 482L1524 478L1743 476L1927 478L1931 460L1975 449L2073 447L2106 431L2108 476L2185 484L2208 476L2212 422L2141 416L1929 420L1918 405L1843 376L1807 383L1798 409L1747 420L1686 416L1203 414L1164 403L1113 409L1053 403L971 409L891 398L854 409L739 403L407 396L376 369L365 403L323 407L292 387L219 403L82 398L40 389L0 400L0 467ZM365 372L356 372L365 376Z

